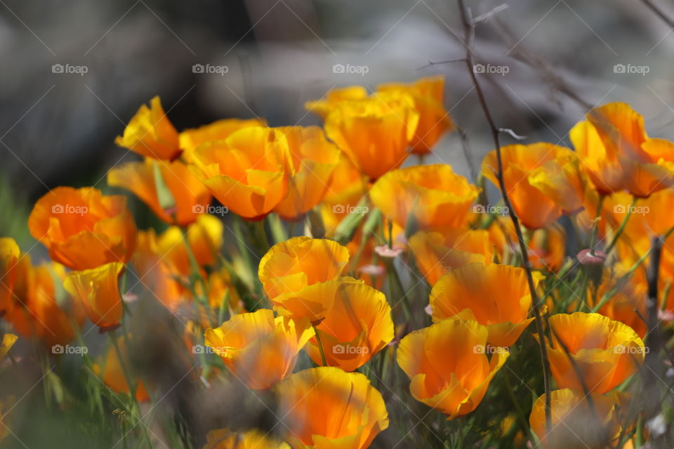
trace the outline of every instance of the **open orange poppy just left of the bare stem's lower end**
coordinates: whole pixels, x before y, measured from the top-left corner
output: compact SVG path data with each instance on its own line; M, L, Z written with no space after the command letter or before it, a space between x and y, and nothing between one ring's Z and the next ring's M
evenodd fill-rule
M417 401L448 415L466 415L480 404L489 382L508 358L485 354L489 330L477 321L447 319L415 330L399 344L397 362Z

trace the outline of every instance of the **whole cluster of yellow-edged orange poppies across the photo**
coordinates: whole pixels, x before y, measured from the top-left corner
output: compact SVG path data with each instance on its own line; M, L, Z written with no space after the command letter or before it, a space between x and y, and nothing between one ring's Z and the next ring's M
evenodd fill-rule
M227 379L267 391L284 422L273 434L213 429L211 449L367 448L389 427L381 388L397 367L412 398L463 419L511 350L538 344L553 388L536 391L513 429L550 448L618 447L634 427L619 413L622 390L649 349L645 256L674 229L674 143L611 103L571 130L575 151L494 149L472 184L447 163L423 164L456 128L443 91L442 77L338 88L306 105L322 128L223 119L180 133L153 98L115 141L143 161L112 168L107 184L164 229L138 229L121 194L52 189L28 220L51 261L34 265L0 239L4 321L49 348L76 340L88 318L115 349L92 373L143 402L154 386L129 369L131 335L117 329L137 297L192 311L181 338L204 388ZM401 168L414 157L420 165ZM485 180L509 201L489 203ZM674 319L667 243L664 322ZM126 291L129 272L145 295ZM538 318L543 335L530 326ZM17 338L4 335L0 356Z

